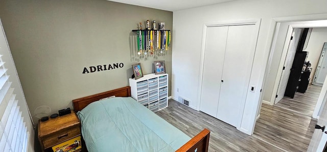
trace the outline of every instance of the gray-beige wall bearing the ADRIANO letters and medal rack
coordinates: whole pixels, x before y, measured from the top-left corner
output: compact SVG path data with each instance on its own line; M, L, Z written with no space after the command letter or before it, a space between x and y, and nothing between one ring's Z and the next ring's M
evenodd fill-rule
M137 55L132 29L147 19L172 29L172 12L105 0L9 0L0 2L0 18L32 115L42 105L57 113L72 108L73 99L129 85L135 63L149 74L154 60L165 60L171 73L171 50ZM114 63L124 67L82 74Z

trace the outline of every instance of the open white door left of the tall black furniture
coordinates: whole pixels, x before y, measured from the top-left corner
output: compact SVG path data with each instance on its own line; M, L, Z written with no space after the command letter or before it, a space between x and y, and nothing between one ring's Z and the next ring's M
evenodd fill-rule
M285 63L284 63L285 70L283 70L281 80L279 81L279 84L278 84L278 89L277 89L278 96L275 99L275 104L277 104L279 101L281 101L284 97L286 86L287 86L287 81L288 81L288 78L291 73L291 68L292 68L294 56L296 53L296 48L298 45L298 41L300 40L302 30L303 29L301 29L301 28L293 29L293 32L292 32L293 39L290 41L287 55L285 58Z

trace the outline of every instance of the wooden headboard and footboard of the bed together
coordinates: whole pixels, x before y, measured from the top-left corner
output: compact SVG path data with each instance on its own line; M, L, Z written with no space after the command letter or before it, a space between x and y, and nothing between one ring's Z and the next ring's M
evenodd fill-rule
M130 86L125 86L118 89L113 89L108 92L103 92L79 99L73 100L74 110L80 111L85 108L88 104L99 101L100 99L108 98L111 96L115 97L130 97L131 96L131 88ZM206 152L208 151L209 146L209 137L210 131L207 129L202 130L198 135L194 136L190 141L186 142L183 146L181 146L178 152L182 151L197 151L197 152Z

